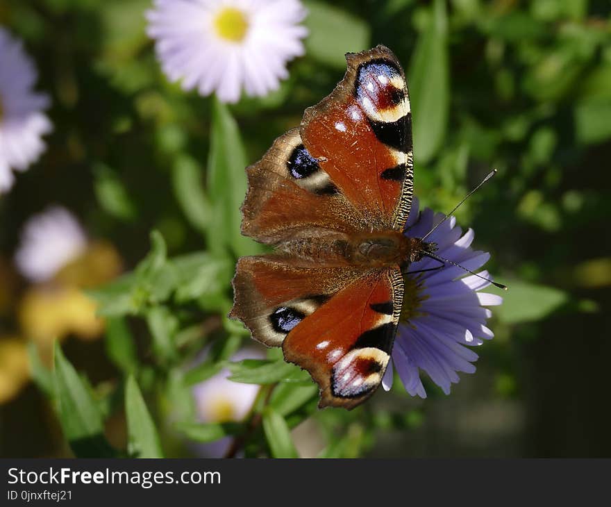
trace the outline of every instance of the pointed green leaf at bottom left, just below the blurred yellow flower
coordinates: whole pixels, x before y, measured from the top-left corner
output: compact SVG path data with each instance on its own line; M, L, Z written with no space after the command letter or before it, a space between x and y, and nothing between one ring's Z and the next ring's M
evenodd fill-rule
M108 458L114 451L103 436L103 422L96 401L56 342L55 392L62 431L79 458Z

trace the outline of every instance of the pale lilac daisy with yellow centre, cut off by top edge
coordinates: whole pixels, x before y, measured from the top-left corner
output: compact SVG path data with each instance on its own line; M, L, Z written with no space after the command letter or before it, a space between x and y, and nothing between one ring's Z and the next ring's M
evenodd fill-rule
M147 33L170 81L236 102L242 88L262 96L287 78L308 31L299 0L155 0Z

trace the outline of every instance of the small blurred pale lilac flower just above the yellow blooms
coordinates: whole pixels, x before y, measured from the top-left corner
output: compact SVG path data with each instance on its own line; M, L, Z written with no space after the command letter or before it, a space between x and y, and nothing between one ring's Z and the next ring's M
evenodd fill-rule
M47 281L87 249L85 231L74 215L53 206L26 222L15 264L27 279Z

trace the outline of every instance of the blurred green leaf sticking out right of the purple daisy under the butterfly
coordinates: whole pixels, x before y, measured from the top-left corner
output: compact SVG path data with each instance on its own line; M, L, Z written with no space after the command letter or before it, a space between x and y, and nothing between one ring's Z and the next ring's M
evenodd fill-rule
M521 324L547 317L569 301L569 294L546 285L508 281L509 290L489 288L503 296L503 304L492 308L494 315L508 324Z

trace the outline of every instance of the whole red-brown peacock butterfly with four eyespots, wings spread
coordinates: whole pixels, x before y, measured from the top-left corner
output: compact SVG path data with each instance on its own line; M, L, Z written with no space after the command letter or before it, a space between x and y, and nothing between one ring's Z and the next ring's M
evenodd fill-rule
M384 46L347 53L328 97L246 169L242 233L275 252L242 257L230 317L310 372L319 406L378 388L403 303L403 273L435 245L403 235L413 192L405 74Z

